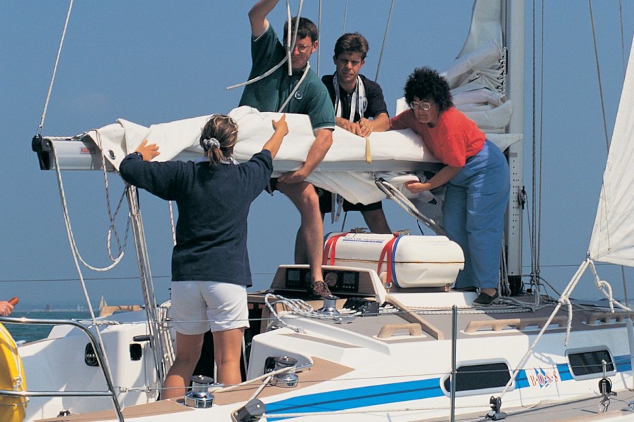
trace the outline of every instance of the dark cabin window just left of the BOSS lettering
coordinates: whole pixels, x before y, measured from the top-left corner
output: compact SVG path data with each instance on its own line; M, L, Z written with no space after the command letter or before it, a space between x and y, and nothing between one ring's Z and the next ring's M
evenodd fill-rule
M511 371L504 362L461 365L456 369L456 392L504 388L510 379ZM451 391L450 376L447 376L444 385L447 392Z

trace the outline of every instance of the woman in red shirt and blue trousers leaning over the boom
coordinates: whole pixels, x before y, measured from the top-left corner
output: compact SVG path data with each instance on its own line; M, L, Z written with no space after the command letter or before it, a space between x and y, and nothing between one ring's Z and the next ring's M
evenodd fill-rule
M427 181L411 181L412 193L447 184L442 205L447 237L464 251L464 269L454 288L480 290L473 302L499 298L499 262L504 212L509 201L509 165L472 120L454 108L449 84L435 70L418 68L405 84L410 109L390 120L390 129L414 130L445 167Z

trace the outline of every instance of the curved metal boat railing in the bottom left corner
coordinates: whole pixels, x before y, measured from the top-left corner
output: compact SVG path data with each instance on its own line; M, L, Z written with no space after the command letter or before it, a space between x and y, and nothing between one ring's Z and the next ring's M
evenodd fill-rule
M121 407L117 399L115 388L113 385L110 371L108 371L103 350L101 350L101 343L97 341L90 328L81 324L78 321L72 319L30 319L30 318L11 318L8 316L0 316L0 323L8 324L20 324L20 325L69 325L79 328L89 338L89 341L94 350L95 358L101 368L101 373L104 374L106 384L108 385L108 391L13 391L13 390L0 390L1 396L8 397L111 397L113 407L116 411L117 418L120 422L123 422L123 414L121 413Z

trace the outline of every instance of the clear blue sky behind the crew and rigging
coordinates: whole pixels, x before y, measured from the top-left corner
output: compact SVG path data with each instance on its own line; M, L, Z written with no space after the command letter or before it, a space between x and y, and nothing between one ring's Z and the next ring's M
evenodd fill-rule
M404 82L416 67L445 70L459 53L471 21L471 0L398 0L381 54L390 2L325 0L321 20L318 2L306 1L302 15L321 28L318 53L311 58L319 75L332 73L332 47L343 32L359 31L370 51L362 73L377 77L394 114ZM55 172L39 170L31 139L42 118L56 53L68 12L68 1L0 2L0 299L20 298L21 309L85 305L63 222ZM251 1L85 1L73 4L66 39L51 91L42 134L73 136L124 118L139 124L180 120L210 113L228 113L237 106L242 82L250 69ZM285 1L269 15L281 32ZM291 1L292 13L298 2ZM527 2L526 29L533 27L533 2ZM537 62L537 110L533 149L533 115L525 106L524 184L533 196L533 161L541 205L524 213L525 274L530 273L529 222L537 214L541 231L540 276L563 290L585 259L595 218L601 177L607 157L601 94L586 1L537 2L537 36L526 39L527 101L533 98L533 46ZM634 32L634 1L595 1L592 7L605 125L611 136L621 95L624 65ZM621 15L623 37L621 42ZM320 22L321 21L321 22ZM544 24L544 36L541 26ZM543 44L543 56L542 56ZM513 54L514 52L510 52ZM623 54L625 56L623 56ZM540 57L543 57L541 60ZM533 153L535 151L535 154ZM533 157L536 157L535 159ZM108 259L108 213L101 172L63 172L68 212L82 257L95 267ZM123 192L117 174L108 175L113 209ZM140 203L149 248L151 273L159 302L168 299L172 247L168 205L142 193ZM127 205L116 223L125 238ZM411 229L413 217L384 201L392 229ZM530 212L530 217L527 212ZM268 287L279 264L292 263L299 213L279 193L261 195L249 216L249 255L254 289ZM359 213L347 215L345 229L364 226ZM342 222L325 231L340 231ZM116 245L113 243L113 248ZM114 251L116 253L116 250ZM140 303L141 289L132 238L125 257L106 273L82 267L93 305L103 295L110 305ZM599 266L615 295L623 295L619 267ZM623 271L629 283L631 269ZM634 288L630 288L630 294ZM585 277L579 298L595 296Z

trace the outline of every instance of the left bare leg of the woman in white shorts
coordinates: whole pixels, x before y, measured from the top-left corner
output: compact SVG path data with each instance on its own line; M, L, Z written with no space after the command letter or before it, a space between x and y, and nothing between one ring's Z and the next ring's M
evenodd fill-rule
M185 396L189 378L192 377L200 359L203 339L204 334L176 333L176 359L163 383L161 400Z

